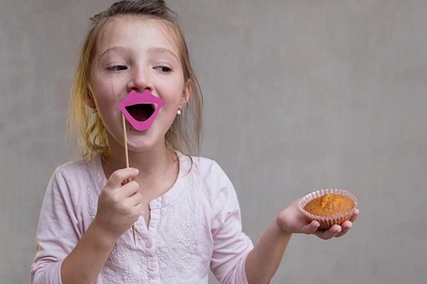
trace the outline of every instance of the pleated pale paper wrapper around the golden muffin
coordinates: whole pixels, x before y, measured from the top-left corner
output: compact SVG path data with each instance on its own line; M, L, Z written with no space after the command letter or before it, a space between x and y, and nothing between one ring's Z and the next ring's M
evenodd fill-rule
M304 207L305 205L307 205L308 202L310 202L311 200L314 200L316 197L322 197L323 195L326 195L326 194L347 196L349 197L349 199L353 200L354 208L349 212L345 212L344 214L339 214L336 216L317 216L305 211ZM302 197L302 199L298 203L298 209L300 209L302 214L304 214L308 219L317 220L320 223L320 229L329 229L334 224L341 225L345 221L352 218L354 209L357 208L357 204L358 204L358 200L354 195L352 195L351 192L348 192L346 190L327 189L327 190L317 190L308 195L305 195L305 197Z

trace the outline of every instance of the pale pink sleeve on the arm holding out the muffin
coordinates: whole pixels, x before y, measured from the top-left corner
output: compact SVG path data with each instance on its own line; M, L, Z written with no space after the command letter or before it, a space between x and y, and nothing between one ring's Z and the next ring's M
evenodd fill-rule
M241 209L231 181L218 167L215 201L216 214L212 226L214 251L211 270L223 284L244 284L246 279L246 256L253 249L253 243L242 231Z

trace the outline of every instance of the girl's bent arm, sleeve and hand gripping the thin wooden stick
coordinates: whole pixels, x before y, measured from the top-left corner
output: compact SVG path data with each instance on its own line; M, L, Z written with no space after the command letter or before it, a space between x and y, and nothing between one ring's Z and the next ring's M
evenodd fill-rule
M102 190L97 215L83 234L68 182L61 173L51 180L38 226L38 251L31 267L33 284L95 283L117 239L142 212L132 169L117 170ZM83 236L82 236L83 234Z

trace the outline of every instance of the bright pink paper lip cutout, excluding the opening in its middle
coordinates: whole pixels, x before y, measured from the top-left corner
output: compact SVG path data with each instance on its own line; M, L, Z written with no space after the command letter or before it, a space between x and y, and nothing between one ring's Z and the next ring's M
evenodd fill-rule
M129 111L127 111L126 109L126 107L133 106L135 104L156 104L156 107L154 107L154 113L149 116L147 120L137 121L129 114ZM162 105L163 99L155 97L148 90L145 90L142 94L139 94L132 90L127 95L127 97L122 102L120 102L119 109L125 115L127 121L129 121L130 125L132 125L133 128L137 129L138 131L144 131L149 129L149 126L152 126L154 119L159 113L159 110L162 108Z

